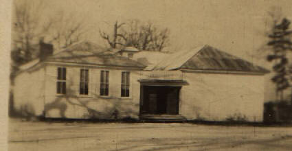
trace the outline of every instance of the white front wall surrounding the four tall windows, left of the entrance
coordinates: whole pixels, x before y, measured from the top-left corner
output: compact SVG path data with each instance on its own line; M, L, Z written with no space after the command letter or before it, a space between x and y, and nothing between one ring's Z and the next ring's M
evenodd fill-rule
M45 83L45 117L114 119L122 117L138 118L139 82L135 71L106 69L109 71L109 96L100 96L100 71L89 69L89 95L79 95L80 69L67 69L67 94L56 94L57 67L48 65ZM130 97L121 96L122 71L130 71Z

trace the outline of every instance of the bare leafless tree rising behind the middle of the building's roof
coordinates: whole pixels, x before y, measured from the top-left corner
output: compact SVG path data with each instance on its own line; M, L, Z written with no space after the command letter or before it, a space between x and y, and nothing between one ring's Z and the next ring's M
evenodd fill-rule
M124 25L122 27L122 25ZM113 38L109 34L100 32L111 48L120 46L133 46L140 50L162 51L168 46L169 30L159 30L153 23L141 23L139 20L131 20L128 23L114 25Z

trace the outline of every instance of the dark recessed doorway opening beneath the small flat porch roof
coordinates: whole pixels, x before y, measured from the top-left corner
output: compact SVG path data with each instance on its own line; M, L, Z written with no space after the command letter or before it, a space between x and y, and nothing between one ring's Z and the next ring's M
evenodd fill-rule
M181 86L143 86L142 114L179 114L179 91Z

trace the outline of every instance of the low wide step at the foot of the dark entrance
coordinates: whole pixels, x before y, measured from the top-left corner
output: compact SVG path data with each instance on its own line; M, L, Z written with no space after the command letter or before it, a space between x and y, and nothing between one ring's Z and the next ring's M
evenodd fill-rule
M150 122L183 122L187 119L181 115L140 115L140 120Z

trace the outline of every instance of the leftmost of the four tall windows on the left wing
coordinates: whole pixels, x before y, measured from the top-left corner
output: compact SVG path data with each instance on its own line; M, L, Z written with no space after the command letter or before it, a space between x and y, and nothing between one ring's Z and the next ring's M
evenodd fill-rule
M66 68L58 67L57 94L66 94Z

